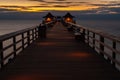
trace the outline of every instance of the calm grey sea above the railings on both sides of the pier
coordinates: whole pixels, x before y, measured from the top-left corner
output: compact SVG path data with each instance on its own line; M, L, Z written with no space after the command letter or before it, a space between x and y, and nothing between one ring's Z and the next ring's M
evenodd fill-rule
M82 26L120 37L120 21L118 20L76 20L76 22ZM0 35L37 26L40 23L41 20L0 20Z

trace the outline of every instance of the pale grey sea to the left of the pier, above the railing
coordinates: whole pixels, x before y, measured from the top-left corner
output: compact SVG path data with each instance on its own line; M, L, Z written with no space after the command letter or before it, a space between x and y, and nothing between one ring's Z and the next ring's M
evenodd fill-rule
M0 20L0 35L37 26L41 20Z

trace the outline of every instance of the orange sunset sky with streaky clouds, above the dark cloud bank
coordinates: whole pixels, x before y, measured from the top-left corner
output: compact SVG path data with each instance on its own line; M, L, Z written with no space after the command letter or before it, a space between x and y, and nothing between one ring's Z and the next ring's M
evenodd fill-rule
M120 0L0 0L0 12L85 11L120 13Z

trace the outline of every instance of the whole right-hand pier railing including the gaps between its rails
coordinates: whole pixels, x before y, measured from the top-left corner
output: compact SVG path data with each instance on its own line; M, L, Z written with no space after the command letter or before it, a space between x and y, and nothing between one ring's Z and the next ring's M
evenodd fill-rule
M114 67L120 70L120 38L74 23L66 23L65 25L72 28L74 33L76 30L79 30L79 37L81 38L79 40L87 43Z

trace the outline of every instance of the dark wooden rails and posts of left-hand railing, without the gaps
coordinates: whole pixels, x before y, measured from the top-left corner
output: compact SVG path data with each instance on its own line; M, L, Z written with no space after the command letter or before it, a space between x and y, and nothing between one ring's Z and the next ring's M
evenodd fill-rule
M32 31L34 29L37 29L37 28L38 27L31 27L31 28L23 29L23 30L20 30L20 31L16 31L16 32L12 32L12 33L0 36L0 44L1 44L0 45L0 56L1 56L1 58L0 58L0 64L1 64L1 68L4 67L4 65L6 64L6 63L4 63L5 60L10 59L10 56L12 56L12 55L15 58L16 55L17 55L16 54L17 51L20 50L21 48L23 48L23 46L25 46L25 44L23 43L23 41L26 38L30 37L31 35L24 36L24 34L27 33L27 32L30 32L30 31ZM32 35L34 35L34 34L35 33L32 33ZM22 38L17 41L17 38L16 38L17 36L22 36ZM12 44L3 47L4 46L3 45L4 41L7 41L9 39L12 40ZM20 42L22 42L22 44L20 45L20 47L17 48L16 45L19 44ZM30 42L30 41L27 40L27 42ZM8 55L5 55L4 51L6 51L7 49L9 49L11 47L13 47L13 52L10 52ZM5 56L3 56L3 55L5 55Z

